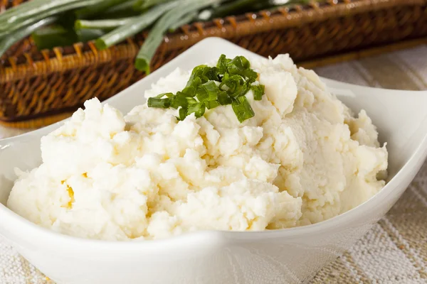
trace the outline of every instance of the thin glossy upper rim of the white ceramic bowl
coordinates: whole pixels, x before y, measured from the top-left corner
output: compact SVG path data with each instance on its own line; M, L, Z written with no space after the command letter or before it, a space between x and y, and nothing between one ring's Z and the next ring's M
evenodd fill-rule
M168 62L163 67L160 67L159 70L156 70L153 72L157 73L163 70L165 67L169 65L173 65L174 61L178 58L184 58L185 56L188 56L192 50L195 48L204 48L204 46L209 46L212 43L221 42L221 44L226 43L226 45L234 45L233 43L229 43L227 40L223 40L222 38L206 38L205 40L201 40L200 43L197 43L192 48L189 48L189 50L186 50L184 53L179 55L178 57L174 58L171 62ZM236 48L240 48L237 45ZM228 47L228 46L227 46ZM243 48L241 48L243 49ZM248 50L246 50L246 53ZM258 55L259 56L259 55ZM321 78L324 80L324 78ZM144 80L144 79L143 79ZM334 80L326 80L327 82L337 82ZM374 88L374 87L364 87L359 86L356 84L349 84L349 83L342 83L337 82L341 86L348 86L348 87L357 87L362 89L369 89L369 90L386 90L381 88ZM126 89L125 89L126 91ZM122 92L125 92L122 91ZM389 91L389 90L388 90ZM406 93L420 93L421 91L399 91L395 90L395 92L406 92ZM105 102L108 102L106 100ZM63 121L66 121L68 119L65 119ZM59 121L56 124L52 124L51 126L46 126L41 129L38 129L36 131L31 131L28 133L23 133L19 136L14 136L12 138L6 138L6 139L0 139L2 143L5 143L5 145L8 145L8 142L13 141L19 141L21 138L26 138L26 136L35 135L36 133L40 133L43 131L51 131L51 129L55 129L58 127L58 125L63 124L63 121ZM1 148L0 148L1 149ZM395 190L396 187L399 187L401 185L401 182L403 182L405 177L407 175L411 175L410 170L415 168L417 164L422 162L424 158L426 158L427 155L427 135L425 135L421 141L421 143L416 147L416 150L413 152L411 157L407 160L407 162L403 165L401 170L399 170L396 175L394 175L389 182L386 183L386 185L373 197L371 197L366 202L363 202L362 204L359 204L357 207L354 207L353 209L350 209L347 212L344 212L343 214L339 214L336 217L332 217L331 219L327 219L325 221L316 223L316 224L310 224L306 226L299 226L299 227L293 227L293 228L287 228L287 229L275 229L275 230L267 230L267 231L192 231L192 232L186 232L184 234L180 234L178 236L171 236L165 239L150 239L150 240L134 240L134 241L105 241L105 240L99 240L99 239L84 239L77 236L69 236L66 234L60 234L56 231L53 231L51 229L44 228L42 226L39 226L37 224L34 224L27 219L19 216L19 214L16 214L11 209L6 207L4 204L0 204L0 224L1 223L7 223L9 224L9 228L18 228L20 231L25 232L26 234L31 236L31 239L41 239L49 244L60 244L63 246L63 244L67 244L70 247L78 246L80 249L86 249L86 250L97 250L102 249L103 251L138 251L138 250L144 250L144 251L155 251L158 249L170 249L170 248L176 248L176 246L183 246L185 244L194 244L195 242L201 242L206 244L211 244L212 241L218 241L221 239L234 239L234 240L248 240L248 241L256 241L259 239L271 239L271 238L286 238L286 237L298 237L298 236L307 236L310 234L322 234L327 231L330 231L333 228L337 227L344 227L345 224L352 224L352 222L359 219L359 215L363 212L366 212L368 209L375 208L376 206L379 206L381 202L384 201L386 197L391 197L395 195L401 194L401 192ZM415 175L415 173L413 173ZM411 179L412 180L412 179ZM406 188L405 188L406 189ZM403 192L403 190L402 190ZM11 240L13 241L13 240Z

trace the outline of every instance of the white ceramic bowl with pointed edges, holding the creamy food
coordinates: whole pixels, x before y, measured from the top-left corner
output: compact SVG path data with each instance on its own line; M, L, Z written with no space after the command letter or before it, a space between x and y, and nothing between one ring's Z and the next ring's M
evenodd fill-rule
M130 111L144 102L144 89L159 77L178 66L190 69L204 64L221 53L258 56L225 40L209 38L107 102L120 111ZM390 180L386 187L339 217L293 229L199 231L158 241L95 241L57 234L28 222L3 204L16 178L13 169L38 166L40 138L59 123L0 141L0 234L59 284L307 282L386 214L427 154L426 92L325 82L354 111L365 109L379 128L380 140L389 143Z

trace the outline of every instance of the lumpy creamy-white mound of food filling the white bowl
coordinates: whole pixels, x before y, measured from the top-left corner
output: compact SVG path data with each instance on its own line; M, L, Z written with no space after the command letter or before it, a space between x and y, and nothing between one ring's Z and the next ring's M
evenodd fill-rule
M175 109L123 116L89 100L41 139L38 168L16 170L8 207L63 234L121 241L314 224L381 190L387 151L365 111L354 116L288 55L251 68L265 95L246 94L255 116L243 123L230 105L178 121ZM175 70L145 97L180 91L190 74Z

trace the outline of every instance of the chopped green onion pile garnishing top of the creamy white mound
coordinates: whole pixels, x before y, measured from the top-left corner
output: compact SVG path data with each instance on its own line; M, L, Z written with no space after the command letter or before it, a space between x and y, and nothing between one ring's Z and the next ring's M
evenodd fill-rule
M206 108L231 104L238 121L243 122L255 116L245 97L248 91L252 90L255 100L263 99L264 85L253 84L257 77L257 72L251 69L251 63L243 56L231 60L221 55L216 67L195 67L181 92L151 97L148 99L148 107L179 109L176 119L184 120L190 114L196 118L203 116Z

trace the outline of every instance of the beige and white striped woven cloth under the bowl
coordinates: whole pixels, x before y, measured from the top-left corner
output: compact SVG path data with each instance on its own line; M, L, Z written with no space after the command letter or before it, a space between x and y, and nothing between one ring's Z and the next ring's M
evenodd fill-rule
M427 45L316 71L372 87L427 89ZM0 126L0 138L21 132ZM29 283L51 281L0 239L0 284ZM312 283L427 283L427 163L389 214Z

